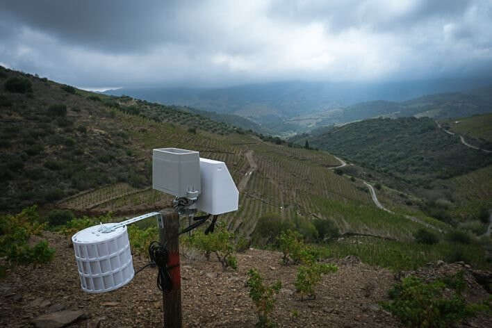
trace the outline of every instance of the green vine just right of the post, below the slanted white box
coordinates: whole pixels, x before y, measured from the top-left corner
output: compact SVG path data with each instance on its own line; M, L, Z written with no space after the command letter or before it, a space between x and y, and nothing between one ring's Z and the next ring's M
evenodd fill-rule
M193 233L190 237L190 245L204 252L207 259L210 259L210 254L215 254L222 264L222 270L225 271L227 268L236 270L238 263L236 256L233 256L236 252L233 240L234 234L227 231L224 223L219 222L213 233L206 234L203 231Z

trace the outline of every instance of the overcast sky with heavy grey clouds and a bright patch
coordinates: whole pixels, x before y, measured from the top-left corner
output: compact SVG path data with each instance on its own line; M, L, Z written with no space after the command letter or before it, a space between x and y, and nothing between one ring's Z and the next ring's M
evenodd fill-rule
M0 0L0 65L85 88L492 76L491 0Z

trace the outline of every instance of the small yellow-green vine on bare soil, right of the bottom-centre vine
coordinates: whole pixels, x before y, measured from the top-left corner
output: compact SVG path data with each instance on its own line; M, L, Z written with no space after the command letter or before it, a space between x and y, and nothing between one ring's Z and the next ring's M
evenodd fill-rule
M306 265L301 265L297 270L294 286L298 293L301 294L301 300L307 297L311 300L316 298L315 287L321 281L321 275L330 272L336 272L336 265L317 263L309 261Z

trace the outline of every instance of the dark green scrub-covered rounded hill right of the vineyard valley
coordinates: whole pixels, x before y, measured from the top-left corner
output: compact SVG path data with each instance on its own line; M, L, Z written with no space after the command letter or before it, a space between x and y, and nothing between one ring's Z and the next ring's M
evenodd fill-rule
M364 120L307 138L310 145L417 186L492 163L491 156L462 145L426 117Z

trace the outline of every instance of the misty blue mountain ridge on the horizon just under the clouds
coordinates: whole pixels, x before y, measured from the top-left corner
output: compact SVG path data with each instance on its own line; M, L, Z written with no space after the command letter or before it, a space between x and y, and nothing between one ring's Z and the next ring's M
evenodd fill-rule
M490 83L484 79L384 83L290 81L227 88L121 88L104 93L257 119L265 115L293 117L363 101L407 101L434 93L479 88Z

